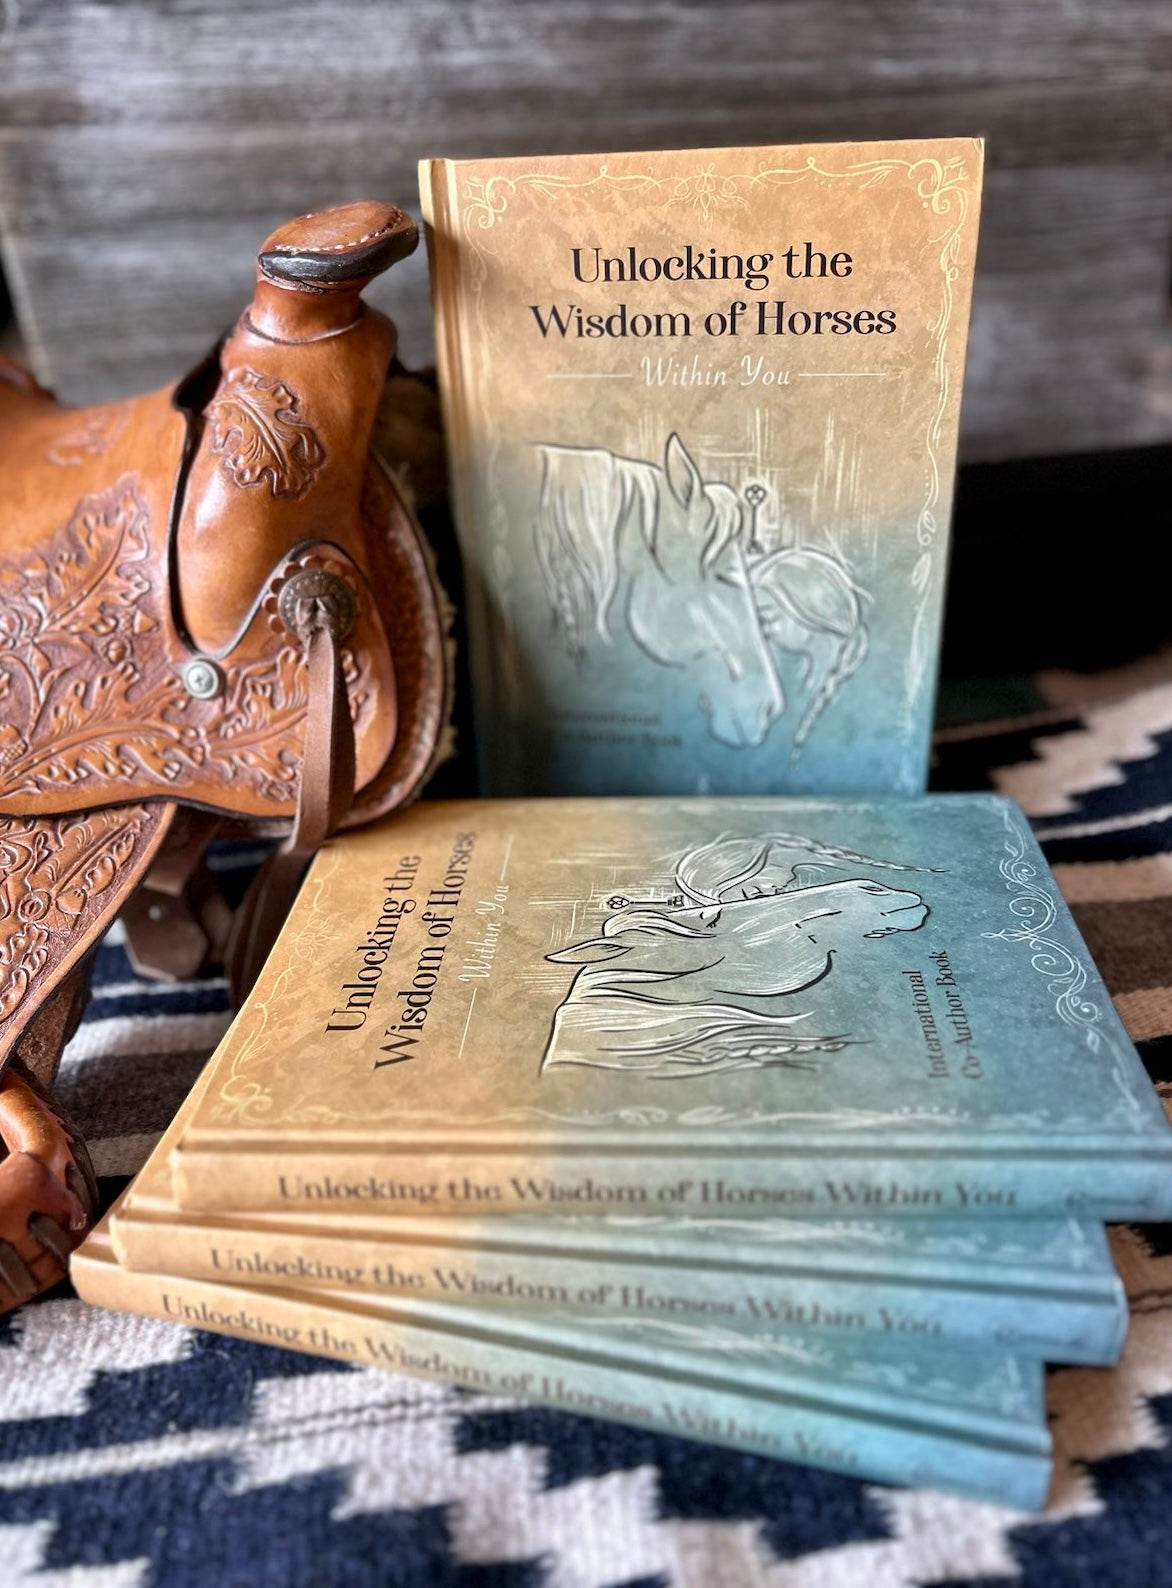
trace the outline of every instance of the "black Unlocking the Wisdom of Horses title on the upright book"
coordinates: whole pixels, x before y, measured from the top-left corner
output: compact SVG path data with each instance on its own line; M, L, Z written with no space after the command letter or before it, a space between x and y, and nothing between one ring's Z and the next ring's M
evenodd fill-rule
M648 254L634 245L616 254L572 248L570 268L583 286L599 283L638 289L656 283L738 281L753 299L732 299L707 313L619 302L605 310L581 303L530 303L529 311L543 340L592 340L599 337L889 337L897 329L894 308L831 303L824 308L792 308L786 299L759 297L777 279L843 281L854 275L854 257L845 249L821 249L792 243L778 252L723 254L716 248L692 248L678 254Z

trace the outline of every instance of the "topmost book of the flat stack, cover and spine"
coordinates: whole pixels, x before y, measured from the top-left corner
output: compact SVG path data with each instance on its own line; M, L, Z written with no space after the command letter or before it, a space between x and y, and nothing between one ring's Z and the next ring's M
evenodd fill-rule
M211 1075L189 1212L1172 1216L994 796L414 807L324 846Z

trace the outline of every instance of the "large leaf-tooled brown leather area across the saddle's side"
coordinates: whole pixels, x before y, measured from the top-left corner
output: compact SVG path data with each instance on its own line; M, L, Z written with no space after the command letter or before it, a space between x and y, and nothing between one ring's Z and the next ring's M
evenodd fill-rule
M84 499L40 554L0 564L0 808L54 792L73 807L119 789L179 799L192 786L229 807L233 791L289 807L306 708L300 646L265 626L249 659L226 667L224 694L195 700L162 586L133 475Z

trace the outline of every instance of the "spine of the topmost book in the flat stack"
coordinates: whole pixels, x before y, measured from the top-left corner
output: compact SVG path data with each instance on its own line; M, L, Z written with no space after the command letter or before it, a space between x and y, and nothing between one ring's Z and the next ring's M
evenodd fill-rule
M232 1174L224 1174L226 1162ZM1172 1220L1167 1154L1145 1159L932 1151L673 1156L219 1147L172 1153L176 1204L189 1213L704 1213L707 1218L1096 1218ZM1108 1181L1108 1189L1099 1188Z

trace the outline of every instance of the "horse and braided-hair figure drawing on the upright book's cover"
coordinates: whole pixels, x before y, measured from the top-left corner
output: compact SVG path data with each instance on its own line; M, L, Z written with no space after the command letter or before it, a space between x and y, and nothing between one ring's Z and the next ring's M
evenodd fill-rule
M861 588L831 546L769 546L759 510L705 480L672 432L662 467L605 446L538 448L537 554L561 640L578 661L621 643L675 669L713 738L734 750L812 729L867 654Z

